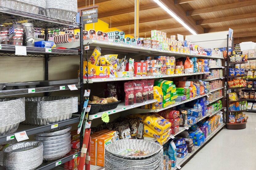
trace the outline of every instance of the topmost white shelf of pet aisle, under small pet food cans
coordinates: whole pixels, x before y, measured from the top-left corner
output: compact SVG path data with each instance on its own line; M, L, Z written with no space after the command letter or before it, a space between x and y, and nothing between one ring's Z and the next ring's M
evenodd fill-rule
M168 51L163 49L154 49L154 48L147 48L137 45L129 45L129 44L121 44L115 42L107 42L107 41L99 41L99 40L84 40L84 45L90 45L90 50L93 50L94 47L99 46L102 49L102 52L106 53L134 53L138 55L145 55L145 54L152 54L152 55L176 55L176 56L189 56L189 57L199 57L199 58L213 58L213 59L224 59L223 57L212 57L208 55L201 55L201 54L192 54L192 53L180 53L175 51ZM67 48L75 48L80 46L80 42L70 42L57 45L57 47L67 47Z

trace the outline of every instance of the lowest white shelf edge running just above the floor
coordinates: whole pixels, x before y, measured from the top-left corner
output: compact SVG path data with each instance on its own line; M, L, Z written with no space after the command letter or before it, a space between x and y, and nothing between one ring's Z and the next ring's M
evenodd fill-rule
M221 128L223 128L224 126L225 126L225 123L221 124L217 129L215 129L214 132L212 132L209 136L206 137L205 142L201 146L195 146L195 149L191 153L188 153L188 155L185 158L177 158L176 165L174 168L171 168L171 170L177 170L178 165L181 166L182 164L184 164L188 160L189 157L194 155L199 148L203 147L206 144L206 142L209 139L211 139L217 132L219 132L221 130Z

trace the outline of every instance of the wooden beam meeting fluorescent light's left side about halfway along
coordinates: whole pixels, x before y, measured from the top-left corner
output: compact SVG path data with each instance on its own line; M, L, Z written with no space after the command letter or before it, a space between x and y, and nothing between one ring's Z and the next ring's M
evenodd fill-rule
M160 21L160 20L166 20L172 18L171 15L163 15L163 16L156 16L156 17L147 17L147 18L140 18L139 23L146 23L146 22L152 22L152 21ZM173 19L174 20L174 19ZM134 19L132 21L123 21L123 22L117 22L111 24L111 27L119 27L119 26L129 26L134 24ZM109 24L110 28L110 24Z

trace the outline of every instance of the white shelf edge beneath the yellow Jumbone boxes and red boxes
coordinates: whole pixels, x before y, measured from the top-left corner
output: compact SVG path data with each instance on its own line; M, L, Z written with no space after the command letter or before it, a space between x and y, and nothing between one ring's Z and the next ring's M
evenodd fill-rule
M192 76L192 75L207 74L207 73L211 73L211 72L163 74L163 75L155 75L155 76L136 76L136 77L89 78L88 83L107 82L107 81L124 81L124 80L142 80L142 79L154 79L154 78L165 78L165 77L181 77L181 76ZM86 81L87 81L87 78L84 79L84 83L86 83Z

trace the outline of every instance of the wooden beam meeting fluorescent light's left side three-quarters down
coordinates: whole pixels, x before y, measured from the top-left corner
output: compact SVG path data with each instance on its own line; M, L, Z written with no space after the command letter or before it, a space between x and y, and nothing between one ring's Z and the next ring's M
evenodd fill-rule
M139 31L139 34L144 34L144 33L148 33L148 32L151 32L151 30L168 30L168 29L174 29L174 28L183 28L183 26L181 24L175 24L175 25L171 25L171 26L166 26L166 25L163 25L163 26L153 26L153 27L145 27L145 28L139 28L140 31ZM143 31L143 30L148 30L148 31ZM124 30L125 34L134 34L134 27L130 30Z

